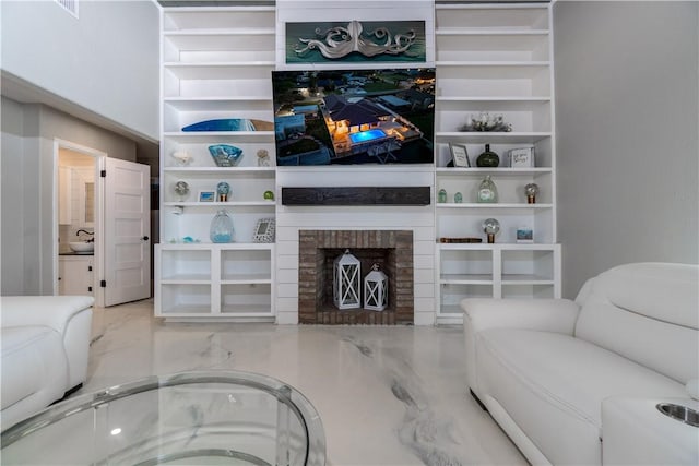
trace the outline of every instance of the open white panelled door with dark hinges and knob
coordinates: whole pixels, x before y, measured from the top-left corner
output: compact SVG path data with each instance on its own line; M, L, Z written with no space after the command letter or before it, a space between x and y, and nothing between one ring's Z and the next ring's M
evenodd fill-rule
M151 296L151 167L106 158L105 306Z

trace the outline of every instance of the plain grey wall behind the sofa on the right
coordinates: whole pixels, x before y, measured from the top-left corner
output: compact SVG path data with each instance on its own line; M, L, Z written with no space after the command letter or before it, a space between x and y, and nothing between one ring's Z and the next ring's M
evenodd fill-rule
M698 10L554 5L565 297L621 263L699 262Z

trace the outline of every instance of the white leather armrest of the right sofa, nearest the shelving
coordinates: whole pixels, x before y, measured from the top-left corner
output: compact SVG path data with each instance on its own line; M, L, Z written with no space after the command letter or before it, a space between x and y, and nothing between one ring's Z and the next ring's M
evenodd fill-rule
M569 299L477 299L461 301L474 333L508 327L572 335L580 307Z

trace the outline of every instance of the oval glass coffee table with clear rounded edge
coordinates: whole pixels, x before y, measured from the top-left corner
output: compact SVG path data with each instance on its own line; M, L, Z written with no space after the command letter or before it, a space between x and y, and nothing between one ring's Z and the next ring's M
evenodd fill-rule
M239 371L151 377L2 432L3 465L325 464L322 422L289 385Z

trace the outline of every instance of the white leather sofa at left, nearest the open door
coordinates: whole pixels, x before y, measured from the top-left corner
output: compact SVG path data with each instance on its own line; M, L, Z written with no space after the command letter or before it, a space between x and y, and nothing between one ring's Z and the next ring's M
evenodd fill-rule
M87 378L93 298L0 298L2 430L42 410Z

